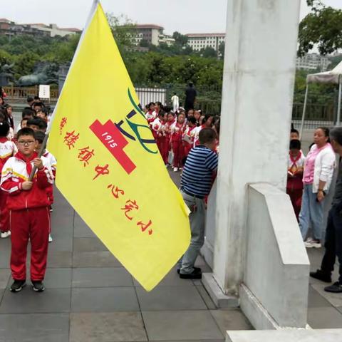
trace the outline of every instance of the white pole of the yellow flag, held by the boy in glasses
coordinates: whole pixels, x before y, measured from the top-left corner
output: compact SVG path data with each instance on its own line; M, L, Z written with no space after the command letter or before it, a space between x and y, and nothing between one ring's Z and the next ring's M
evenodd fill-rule
M75 63L76 61L76 57L78 55L78 51L80 50L80 47L81 47L81 43L83 42L83 39L84 39L84 36L86 36L86 31L88 30L88 27L90 26L90 23L91 21L93 20L93 16L95 15L95 12L96 10L98 9L98 5L100 4L100 0L93 0L93 5L91 6L91 9L90 9L90 13L88 15L88 19L86 21L86 25L84 26L83 28L83 31L82 31L82 34L81 34L81 37L80 37L80 40L78 41L78 45L77 45L77 48L76 48L76 51L73 55L73 60L71 61L71 65L70 65L70 68L69 68L69 71L71 71L71 68L73 67L73 64ZM69 71L68 71L68 74L69 74ZM66 83L66 81L68 80L68 74L66 75L66 80L64 81L64 84ZM61 97L62 93L63 93L63 89L64 89L64 84L63 84L63 88L61 90L61 94L59 94L59 96ZM59 100L58 100L59 101ZM50 133L50 130L51 130L51 126L52 126L52 123L53 123L53 119L55 118L55 113L56 113L56 108L58 106L58 101L55 105L55 108L53 109L53 113L51 115L51 119L50 119L50 123L48 124L48 128L46 130L46 135L45 135L45 138L41 144L41 150L39 151L38 153L38 158L40 158L42 155L43 155L43 152L44 150L46 149L46 145L48 143L48 135ZM28 181L32 181L33 180L33 176L34 174L36 173L36 170L37 170L37 167L36 166L33 166L32 168L32 171L31 171L31 174L30 176L28 177Z

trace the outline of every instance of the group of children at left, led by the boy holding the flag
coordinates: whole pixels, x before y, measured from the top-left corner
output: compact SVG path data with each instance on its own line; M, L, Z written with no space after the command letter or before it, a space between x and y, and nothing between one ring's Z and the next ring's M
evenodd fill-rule
M27 103L15 128L12 107L0 97L0 234L3 239L11 236L12 292L26 285L28 242L33 290L44 291L48 242L53 241L50 215L56 159L45 148L41 151L48 110L38 97L28 97Z

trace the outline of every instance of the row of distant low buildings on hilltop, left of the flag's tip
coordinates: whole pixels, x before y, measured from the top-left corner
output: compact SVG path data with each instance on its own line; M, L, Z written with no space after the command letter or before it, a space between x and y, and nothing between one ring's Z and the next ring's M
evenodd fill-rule
M0 34L6 36L68 36L81 33L78 28L59 28L56 24L16 24L8 19L0 19Z

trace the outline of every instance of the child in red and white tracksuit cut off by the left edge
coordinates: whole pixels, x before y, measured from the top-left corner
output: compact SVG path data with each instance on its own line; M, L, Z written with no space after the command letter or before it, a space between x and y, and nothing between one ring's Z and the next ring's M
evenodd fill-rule
M9 123L0 122L0 172L10 157L16 152L16 144L7 138L9 134ZM11 235L9 230L9 208L7 207L7 192L0 190L0 236L5 239Z

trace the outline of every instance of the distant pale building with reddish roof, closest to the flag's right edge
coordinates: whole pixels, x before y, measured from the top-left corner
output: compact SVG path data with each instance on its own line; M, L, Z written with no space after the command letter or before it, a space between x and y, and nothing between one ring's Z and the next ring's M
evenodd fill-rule
M175 43L175 39L163 33L164 28L154 24L138 24L133 26L133 44L139 46L141 41L147 41L152 45L158 46L160 43L167 43L171 46Z

